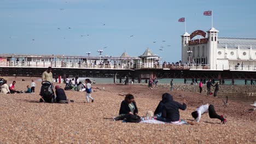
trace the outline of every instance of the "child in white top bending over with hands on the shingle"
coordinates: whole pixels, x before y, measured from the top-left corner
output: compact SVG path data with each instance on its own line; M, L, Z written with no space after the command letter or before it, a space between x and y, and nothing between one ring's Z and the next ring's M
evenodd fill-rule
M191 115L195 118L196 122L199 122L201 115L204 113L209 113L210 118L218 118L223 124L227 122L226 118L224 118L223 115L219 116L214 110L214 106L209 104L200 106L196 111L192 112Z

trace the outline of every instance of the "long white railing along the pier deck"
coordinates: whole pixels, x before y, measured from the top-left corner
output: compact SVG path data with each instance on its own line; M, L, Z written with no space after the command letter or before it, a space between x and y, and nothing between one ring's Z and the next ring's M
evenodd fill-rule
M255 65L229 65L224 68L220 65L218 70L255 70ZM167 63L80 63L80 62L32 62L7 61L0 62L0 67L53 67L53 68L91 68L91 69L210 69L209 64L167 64ZM216 66L217 67L217 66ZM223 68L223 69L220 69Z

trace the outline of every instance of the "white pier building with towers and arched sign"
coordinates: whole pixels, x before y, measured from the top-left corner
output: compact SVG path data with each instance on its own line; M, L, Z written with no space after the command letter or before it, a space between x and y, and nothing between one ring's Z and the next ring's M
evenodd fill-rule
M256 70L256 39L218 38L211 28L182 35L182 62L211 70Z

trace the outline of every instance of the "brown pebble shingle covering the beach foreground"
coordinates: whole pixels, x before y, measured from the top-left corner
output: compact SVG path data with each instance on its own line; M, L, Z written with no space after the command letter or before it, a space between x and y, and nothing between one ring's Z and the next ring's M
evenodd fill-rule
M8 85L14 77L7 77ZM16 89L26 90L31 78L17 77ZM32 78L36 79L36 78ZM253 106L192 92L170 92L168 88L148 89L142 85L96 84L94 103L85 103L85 92L66 91L71 104L39 103L40 82L35 94L0 94L0 143L256 143L256 112ZM56 84L55 84L56 85ZM65 84L61 84L63 88ZM103 91L103 87L105 91ZM135 95L138 115L154 111L161 95L170 92L174 100L187 100L181 118L192 121L190 113L202 104L213 104L228 123L202 115L196 125L114 122L124 94Z

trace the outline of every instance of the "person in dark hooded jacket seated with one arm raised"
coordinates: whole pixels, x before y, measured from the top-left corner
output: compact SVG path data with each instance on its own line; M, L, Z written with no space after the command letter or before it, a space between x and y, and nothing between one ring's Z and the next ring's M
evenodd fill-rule
M187 109L187 105L185 104L185 100L183 104L179 104L174 101L171 94L165 93L166 102L162 107L162 115L161 117L157 117L158 121L168 122L168 123L176 123L179 122L179 109L185 110Z

